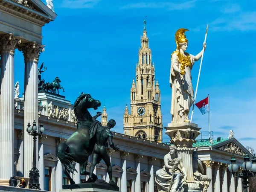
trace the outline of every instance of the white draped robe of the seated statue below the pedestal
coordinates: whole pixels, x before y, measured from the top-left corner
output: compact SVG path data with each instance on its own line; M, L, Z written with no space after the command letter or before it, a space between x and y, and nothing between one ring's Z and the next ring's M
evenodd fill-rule
M171 155L169 153L166 155L169 155L169 161L168 161L169 166L176 165L177 164L176 162L180 160L180 157L172 160ZM171 191L174 191L174 192L184 191L185 188L183 187L182 177L183 176L181 173L178 173L178 172L174 173ZM171 179L172 179L172 172L171 170L169 171L169 169L167 169L165 166L163 166L162 169L157 170L155 181L158 184L159 190L167 191L169 189Z

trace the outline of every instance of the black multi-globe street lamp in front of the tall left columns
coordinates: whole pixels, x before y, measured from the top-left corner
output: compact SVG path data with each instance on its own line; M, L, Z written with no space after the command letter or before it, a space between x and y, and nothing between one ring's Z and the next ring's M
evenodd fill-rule
M44 127L43 123L40 123L39 131L37 132L36 122L33 122L32 128L30 127L30 123L28 123L28 127L26 131L29 133L29 135L33 136L34 140L34 148L33 148L33 166L32 169L29 171L29 189L40 189L39 184L39 170L36 167L36 152L35 152L35 142L36 142L36 136L43 134Z

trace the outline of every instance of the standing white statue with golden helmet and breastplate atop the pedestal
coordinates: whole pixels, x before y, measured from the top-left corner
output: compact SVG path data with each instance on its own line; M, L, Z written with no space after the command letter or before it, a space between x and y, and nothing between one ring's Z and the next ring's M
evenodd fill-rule
M197 55L186 51L188 40L185 32L188 29L178 29L175 34L176 51L171 56L170 87L172 88L172 122L189 122L189 110L194 102L191 70L195 61L198 61L203 49ZM203 44L206 48L206 43Z

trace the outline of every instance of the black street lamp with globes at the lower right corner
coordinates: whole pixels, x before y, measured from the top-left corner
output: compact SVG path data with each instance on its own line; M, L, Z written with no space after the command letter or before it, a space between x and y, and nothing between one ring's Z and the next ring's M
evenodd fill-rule
M243 179L243 189L244 192L248 192L248 179L250 177L256 177L256 157L255 154L253 154L253 160L252 163L250 162L250 157L246 153L244 155L244 163L242 164L243 170L239 173L237 173L239 167L236 164L236 158L234 155L231 157L231 164L228 166L228 170L233 174L233 177L240 177Z

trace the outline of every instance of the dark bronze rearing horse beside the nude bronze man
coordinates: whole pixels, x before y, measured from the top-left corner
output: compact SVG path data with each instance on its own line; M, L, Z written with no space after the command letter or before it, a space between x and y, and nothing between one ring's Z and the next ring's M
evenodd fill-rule
M64 143L58 145L57 157L65 167L65 175L70 180L70 184L75 184L70 177L70 172L73 174L77 172L72 164L72 161L79 163L81 166L81 175L89 175L86 171L88 157L93 151L95 140L89 140L90 126L93 122L92 116L88 109L94 110L100 107L101 102L93 99L90 94L81 93L74 104L74 112L77 117L77 130ZM93 181L97 176L93 174Z

